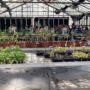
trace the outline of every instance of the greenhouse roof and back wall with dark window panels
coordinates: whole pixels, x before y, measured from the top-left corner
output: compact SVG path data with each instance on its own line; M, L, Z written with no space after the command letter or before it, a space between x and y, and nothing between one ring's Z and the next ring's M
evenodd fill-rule
M85 0L75 7L74 3L77 1L78 0L1 0L1 29L7 29L11 24L16 25L18 29L25 29L25 27L34 25L34 21L37 21L37 18L40 19L42 26L49 25L54 27L59 24L71 25L73 22L71 16L79 17L80 15L83 18L75 21L75 23L77 25L90 27L90 1ZM60 13L56 14L56 10L59 10Z

